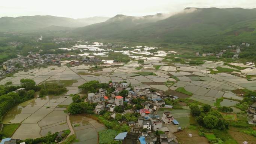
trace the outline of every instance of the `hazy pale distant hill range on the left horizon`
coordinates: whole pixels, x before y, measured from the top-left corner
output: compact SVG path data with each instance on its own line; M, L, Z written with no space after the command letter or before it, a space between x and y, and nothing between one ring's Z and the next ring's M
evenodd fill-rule
M60 27L83 27L86 25L106 21L107 17L92 17L83 19L73 19L58 16L19 16L13 17L1 17L0 18L0 31L36 31L42 28L51 26L57 26L57 30ZM67 28L62 28L61 30Z

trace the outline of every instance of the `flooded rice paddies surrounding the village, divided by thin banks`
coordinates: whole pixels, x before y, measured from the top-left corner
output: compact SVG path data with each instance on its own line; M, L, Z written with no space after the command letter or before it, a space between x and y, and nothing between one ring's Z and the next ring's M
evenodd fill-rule
M143 58L141 56L140 58ZM256 80L248 81L246 77L256 75L256 68L246 68L241 70L241 74L217 73L210 74L210 68L226 67L223 62L204 61L202 65L191 66L188 64L161 62L162 57L145 57L144 64L138 64L138 61L130 61L119 67L107 67L100 70L89 70L91 66L79 65L75 67L67 67L65 65L49 66L48 68L34 68L28 71L19 71L13 77L6 77L0 80L0 84L11 81L13 85L20 85L21 79L33 79L36 84L53 80L71 80L73 83L67 86L69 94L78 94L80 89L77 86L82 85L90 80L98 80L100 83L127 81L131 86L138 88L153 88L165 92L170 95L181 97L189 97L195 101L214 106L216 99L228 98L234 100L242 100L243 97L232 93L236 89L256 90ZM171 62L171 61L170 61ZM103 64L106 65L106 64ZM156 70L155 65L160 65ZM135 68L142 67L140 70ZM151 75L142 74L141 72L152 73ZM165 82L171 81L173 85L165 85ZM183 87L186 91L193 95L185 95L175 90ZM175 92L175 93L174 93ZM168 93L169 94L169 93ZM237 101L224 99L221 105L233 106ZM36 138L47 134L48 131L55 132L68 129L66 114L63 108L58 105L69 105L72 98L69 96L46 96L45 98L36 98L17 105L7 113L3 119L3 123L21 123L21 126L13 134L13 138L25 139ZM160 113L161 114L161 113ZM174 113L177 119L188 121L189 112ZM79 143L93 143L97 137L97 132L104 129L92 119L83 120L81 117L72 118L74 123L79 123L78 127L74 127ZM30 129L25 129L29 127ZM91 132L88 133L88 130ZM95 135L93 135L95 134Z

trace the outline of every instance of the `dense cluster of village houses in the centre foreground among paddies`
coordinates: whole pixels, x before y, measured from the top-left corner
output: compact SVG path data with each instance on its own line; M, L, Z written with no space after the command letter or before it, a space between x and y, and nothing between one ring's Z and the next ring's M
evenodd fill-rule
M121 107L125 109L124 103L127 105L133 104L132 99L142 98L148 99L146 102L142 102L143 108L140 110L124 110L125 113L139 113L138 119L136 121L122 121L130 126L130 132L123 132L116 136L115 140L122 141L122 144L153 144L156 142L157 137L154 131L161 131L161 144L175 144L174 135L169 134L170 130L166 125L172 124L175 126L176 131L180 131L182 128L179 127L179 122L174 119L172 114L167 111L163 113L163 116L159 116L157 113L159 108L172 108L172 105L165 105L165 98L171 98L173 100L178 99L177 96L167 96L163 92L152 91L150 88L138 88L128 85L128 83L109 83L109 87L115 88L115 91L111 93L111 96L106 96L107 91L100 88L97 93L89 93L88 98L85 101L97 103L95 107L95 114L100 114L101 111L111 111L114 112L115 107ZM128 94L126 97L118 95L122 90L127 90ZM112 115L115 118L115 113Z

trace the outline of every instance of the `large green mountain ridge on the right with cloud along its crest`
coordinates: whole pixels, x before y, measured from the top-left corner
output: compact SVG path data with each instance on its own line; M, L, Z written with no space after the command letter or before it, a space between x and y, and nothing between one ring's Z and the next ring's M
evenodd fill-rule
M256 36L256 9L185 8L168 17L116 15L106 22L77 28L75 33L90 38L133 41L196 42L253 40ZM250 36L250 37L247 37Z

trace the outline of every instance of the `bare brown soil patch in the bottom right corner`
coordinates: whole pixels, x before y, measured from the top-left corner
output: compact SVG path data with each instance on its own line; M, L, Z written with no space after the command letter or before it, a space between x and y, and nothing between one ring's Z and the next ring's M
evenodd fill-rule
M244 141L247 141L248 144L256 144L256 137L239 132L237 128L231 127L228 130L228 133L237 141L238 144L243 144Z

